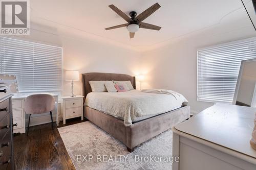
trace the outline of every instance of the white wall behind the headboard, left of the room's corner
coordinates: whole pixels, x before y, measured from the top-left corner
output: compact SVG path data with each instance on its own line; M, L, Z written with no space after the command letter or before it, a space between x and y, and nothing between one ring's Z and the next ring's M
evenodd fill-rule
M72 31L72 30L71 30ZM140 54L132 47L87 35L62 32L54 28L31 24L29 36L7 36L49 45L62 46L62 95L71 95L70 81L65 81L65 70L85 72L114 72L135 75ZM81 94L81 82L74 82L74 94Z

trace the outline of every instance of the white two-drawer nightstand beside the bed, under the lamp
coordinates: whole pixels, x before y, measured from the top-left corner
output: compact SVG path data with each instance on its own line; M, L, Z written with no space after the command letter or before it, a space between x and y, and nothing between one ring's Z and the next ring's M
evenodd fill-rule
M75 95L61 97L61 110L63 113L63 125L66 124L66 119L80 117L83 120L83 96Z

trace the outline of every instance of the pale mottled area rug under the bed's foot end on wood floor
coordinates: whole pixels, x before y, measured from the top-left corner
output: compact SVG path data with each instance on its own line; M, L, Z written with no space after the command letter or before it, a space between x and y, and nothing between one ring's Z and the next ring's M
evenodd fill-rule
M140 144L132 153L89 121L61 127L58 131L77 170L172 169L172 130Z

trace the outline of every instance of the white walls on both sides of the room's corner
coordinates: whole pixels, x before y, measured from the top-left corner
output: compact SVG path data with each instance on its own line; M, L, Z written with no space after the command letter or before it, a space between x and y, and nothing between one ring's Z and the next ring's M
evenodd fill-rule
M79 30L65 32L33 24L30 36L15 38L62 46L64 70L143 74L145 81L142 82L142 88L176 90L184 94L192 111L199 112L213 103L197 101L197 49L253 36L255 31L250 21L242 18L234 23L225 22L225 25L218 24L146 46L146 50L152 50L140 53L125 44ZM74 85L74 93L81 94L80 82ZM62 94L70 95L70 91L70 82L63 79Z

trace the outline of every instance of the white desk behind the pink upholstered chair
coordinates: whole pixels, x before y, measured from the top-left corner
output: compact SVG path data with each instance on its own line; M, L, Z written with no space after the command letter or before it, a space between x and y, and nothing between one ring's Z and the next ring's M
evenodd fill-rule
M53 114L55 114L55 121L58 126L59 118L58 118L58 95L51 94L55 99L55 110L53 111ZM30 94L15 94L12 96L12 109L13 109L13 123L17 123L17 127L13 128L14 133L25 133L26 132L26 114L25 114L25 108L24 108L24 100L25 98ZM42 117L44 117L42 120ZM48 121L49 120L49 121ZM51 118L49 114L38 114L35 117L31 117L30 125L39 125L51 122Z

